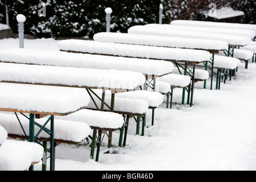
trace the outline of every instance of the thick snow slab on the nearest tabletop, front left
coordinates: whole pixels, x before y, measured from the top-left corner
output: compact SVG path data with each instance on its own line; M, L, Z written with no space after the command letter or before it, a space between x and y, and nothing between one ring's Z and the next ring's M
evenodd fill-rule
M87 106L90 98L83 89L1 83L0 100L1 109L61 114Z

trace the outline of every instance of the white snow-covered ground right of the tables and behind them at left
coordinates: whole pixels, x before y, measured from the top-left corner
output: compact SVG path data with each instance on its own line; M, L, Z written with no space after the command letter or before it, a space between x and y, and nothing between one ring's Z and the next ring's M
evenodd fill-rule
M25 40L24 47L59 51L53 39ZM18 39L0 40L0 49L18 48ZM1 55L0 55L1 56ZM192 107L181 106L181 89L174 90L174 108L165 103L155 110L155 125L147 113L145 136L135 135L131 119L127 145L118 147L119 133L113 133L114 147L101 147L99 162L89 159L86 142L79 146L56 147L56 170L256 170L256 64L240 65L232 81L221 90L196 84ZM210 79L210 78L209 78ZM104 154L106 152L106 154ZM35 165L41 170L41 164Z

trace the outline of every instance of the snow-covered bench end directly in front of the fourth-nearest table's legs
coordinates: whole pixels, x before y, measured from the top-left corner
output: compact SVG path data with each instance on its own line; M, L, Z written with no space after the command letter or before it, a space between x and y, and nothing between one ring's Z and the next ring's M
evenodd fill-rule
M180 75L180 74L169 74L165 75L163 77L158 78L158 82L167 82L170 84L170 92L166 93L167 96L167 104L166 108L168 108L168 103L169 103L169 98L171 97L170 100L170 108L172 108L172 97L174 94L174 89L175 88L186 88L191 84L191 77L185 76L185 75Z

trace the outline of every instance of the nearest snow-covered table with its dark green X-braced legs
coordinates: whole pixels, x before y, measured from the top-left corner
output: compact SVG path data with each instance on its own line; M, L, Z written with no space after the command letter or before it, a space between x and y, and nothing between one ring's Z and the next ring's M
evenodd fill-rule
M47 132L50 139L50 169L53 170L54 116L68 115L84 109L89 103L89 96L81 89L1 83L0 100L0 111L29 114L26 119L30 123L30 133L27 135L30 142L35 142L39 133ZM45 119L47 121L44 125L35 122L35 118L46 115L50 117ZM50 129L46 129L47 123L50 123ZM35 126L40 128L38 134L35 133Z

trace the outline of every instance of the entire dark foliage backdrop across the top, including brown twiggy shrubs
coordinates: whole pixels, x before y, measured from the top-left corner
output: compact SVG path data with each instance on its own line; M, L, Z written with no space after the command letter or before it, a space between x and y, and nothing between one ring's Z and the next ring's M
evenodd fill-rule
M159 5L163 3L163 23L174 19L212 20L202 12L209 10L209 3L217 8L231 6L245 12L245 16L234 19L238 23L256 24L256 1L251 0L2 0L0 23L6 23L5 5L9 6L10 26L18 32L16 15L23 14L25 34L38 38L86 37L106 30L105 8L113 10L112 32L127 32L137 24L158 23ZM38 16L40 2L46 3L46 17ZM231 21L226 19L226 21Z

